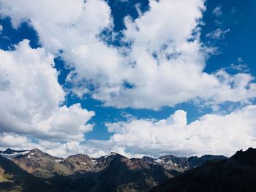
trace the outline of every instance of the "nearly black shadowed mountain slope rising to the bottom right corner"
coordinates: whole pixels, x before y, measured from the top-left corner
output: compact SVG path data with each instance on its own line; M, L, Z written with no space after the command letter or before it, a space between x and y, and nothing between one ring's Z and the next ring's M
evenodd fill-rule
M178 177L152 188L152 192L165 191L255 191L256 149L238 151L226 160L208 161Z

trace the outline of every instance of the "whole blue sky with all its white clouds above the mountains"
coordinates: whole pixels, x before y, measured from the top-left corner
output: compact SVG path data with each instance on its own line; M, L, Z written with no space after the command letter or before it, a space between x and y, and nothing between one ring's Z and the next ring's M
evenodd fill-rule
M253 0L0 0L0 150L256 147Z

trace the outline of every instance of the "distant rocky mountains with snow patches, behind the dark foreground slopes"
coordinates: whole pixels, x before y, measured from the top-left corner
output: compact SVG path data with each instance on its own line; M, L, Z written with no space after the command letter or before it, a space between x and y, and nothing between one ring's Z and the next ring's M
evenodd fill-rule
M158 159L127 158L118 153L99 158L90 158L83 154L57 158L38 149L8 151L14 153L0 155L9 158L7 160L15 166L18 165L20 170L25 170L30 175L28 177L45 181L55 191L148 191L153 186L208 160L225 159L224 156L214 155L190 158L178 158L174 155L165 155Z

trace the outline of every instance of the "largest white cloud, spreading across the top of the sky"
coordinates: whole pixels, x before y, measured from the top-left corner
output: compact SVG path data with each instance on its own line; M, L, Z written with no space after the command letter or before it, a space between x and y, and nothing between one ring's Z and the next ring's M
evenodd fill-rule
M75 67L67 81L80 97L91 93L107 106L159 109L198 99L217 105L256 96L250 74L203 72L209 50L199 39L203 0L151 0L140 18L125 19L123 41L131 43L129 48L98 38L103 28L113 26L105 1L1 0L1 5L1 14L10 16L14 26L29 21L45 50L63 51L61 57Z

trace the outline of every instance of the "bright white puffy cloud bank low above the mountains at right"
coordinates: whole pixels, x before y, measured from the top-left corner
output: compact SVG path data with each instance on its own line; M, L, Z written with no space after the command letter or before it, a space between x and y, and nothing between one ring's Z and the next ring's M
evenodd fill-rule
M108 123L114 133L110 142L125 152L153 156L233 155L236 150L256 147L255 105L227 115L203 115L189 124L186 115L178 110L162 120Z

